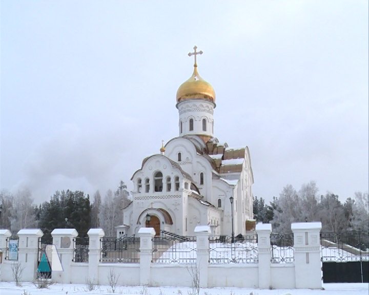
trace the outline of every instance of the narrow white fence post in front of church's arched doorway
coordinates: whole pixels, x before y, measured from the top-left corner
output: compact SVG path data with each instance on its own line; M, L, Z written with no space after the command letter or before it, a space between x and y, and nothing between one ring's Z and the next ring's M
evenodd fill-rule
M151 285L151 260L155 230L152 227L141 227L138 230L140 237L140 285Z

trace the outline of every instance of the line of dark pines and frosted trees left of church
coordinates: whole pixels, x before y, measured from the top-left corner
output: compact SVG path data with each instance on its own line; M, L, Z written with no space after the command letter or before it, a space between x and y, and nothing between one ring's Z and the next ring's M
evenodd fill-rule
M0 192L2 214L0 228L10 229L15 235L22 228L40 228L43 242L51 243L54 228L75 228L78 243L87 241L90 228L103 228L105 235L116 235L115 226L123 222L122 209L131 202L127 185L120 181L115 191L109 189L105 198L97 191L90 196L81 191L56 191L49 201L35 205L29 189L20 189L15 194Z

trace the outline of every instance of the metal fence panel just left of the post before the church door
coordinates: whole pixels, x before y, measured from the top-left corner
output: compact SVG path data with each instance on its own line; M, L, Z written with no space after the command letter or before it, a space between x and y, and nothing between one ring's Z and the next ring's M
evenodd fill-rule
M101 242L100 262L103 263L139 263L140 239L124 235L120 238L104 237Z

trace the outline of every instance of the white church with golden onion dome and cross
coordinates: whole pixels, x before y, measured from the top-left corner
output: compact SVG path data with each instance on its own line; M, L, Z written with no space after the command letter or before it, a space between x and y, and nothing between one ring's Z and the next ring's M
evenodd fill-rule
M215 91L197 71L176 95L178 137L162 145L160 154L145 158L133 174L133 200L124 208L117 234L137 234L141 227L190 236L197 225L214 235L244 235L253 229L250 152L232 148L214 135ZM231 203L232 200L232 203ZM233 211L233 214L232 214Z

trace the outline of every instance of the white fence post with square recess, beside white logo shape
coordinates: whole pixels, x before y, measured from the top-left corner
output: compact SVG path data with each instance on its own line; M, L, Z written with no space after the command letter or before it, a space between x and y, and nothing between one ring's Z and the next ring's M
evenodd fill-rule
M78 236L74 228L55 228L51 232L53 244L58 251L63 271L52 271L51 278L55 283L71 283L71 264L74 255L73 238Z

